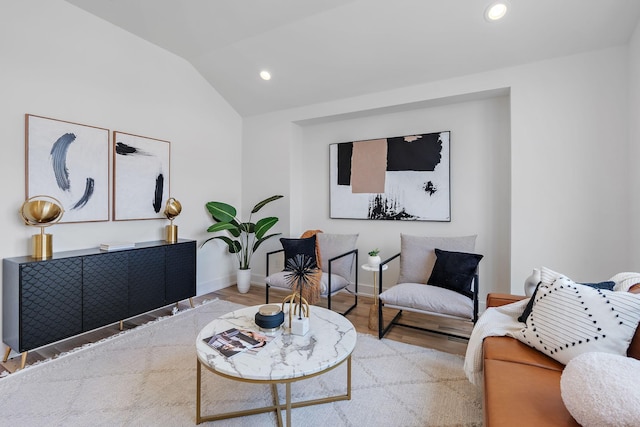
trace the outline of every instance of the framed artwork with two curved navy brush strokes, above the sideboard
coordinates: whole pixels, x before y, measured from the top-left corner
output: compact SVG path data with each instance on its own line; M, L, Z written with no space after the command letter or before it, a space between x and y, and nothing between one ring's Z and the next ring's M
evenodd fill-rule
M26 198L49 196L62 223L109 220L109 130L25 114Z

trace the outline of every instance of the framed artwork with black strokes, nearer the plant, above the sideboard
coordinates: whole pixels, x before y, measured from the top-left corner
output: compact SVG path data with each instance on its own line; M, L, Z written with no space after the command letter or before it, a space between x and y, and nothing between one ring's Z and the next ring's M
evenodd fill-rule
M171 143L114 131L113 153L113 219L165 218Z

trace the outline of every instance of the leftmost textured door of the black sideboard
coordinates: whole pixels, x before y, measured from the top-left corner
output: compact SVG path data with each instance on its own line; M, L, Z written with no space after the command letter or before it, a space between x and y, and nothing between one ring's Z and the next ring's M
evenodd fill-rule
M82 332L82 259L20 265L20 349L26 351Z

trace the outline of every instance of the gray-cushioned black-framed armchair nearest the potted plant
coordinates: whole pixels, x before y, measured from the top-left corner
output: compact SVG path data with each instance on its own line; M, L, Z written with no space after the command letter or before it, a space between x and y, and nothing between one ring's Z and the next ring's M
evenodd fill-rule
M346 315L358 304L358 249L356 242L357 234L331 234L319 232L316 235L317 253L319 254L322 276L320 279L320 296L327 299L327 308L332 309L332 297L337 293L346 291L353 295L353 304L341 314ZM281 239L286 241L299 239ZM269 303L269 289L280 288L290 290L287 280L287 271L284 270L284 263L287 256L285 248L267 253L267 277L266 302ZM277 255L280 254L280 255ZM279 271L270 273L270 265L274 262L274 257L279 256Z

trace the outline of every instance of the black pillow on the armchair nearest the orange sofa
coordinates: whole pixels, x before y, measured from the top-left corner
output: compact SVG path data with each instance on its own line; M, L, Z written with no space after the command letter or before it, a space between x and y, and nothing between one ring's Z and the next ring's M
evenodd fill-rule
M473 298L471 284L483 255L435 249L436 264L427 284L449 289Z

